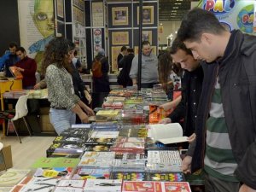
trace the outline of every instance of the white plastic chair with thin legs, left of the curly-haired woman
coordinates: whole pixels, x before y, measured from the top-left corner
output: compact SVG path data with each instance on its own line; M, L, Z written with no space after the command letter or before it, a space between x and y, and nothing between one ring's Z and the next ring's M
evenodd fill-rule
M17 120L17 119L20 119L22 118L24 120L24 123L26 125L26 129L27 131L29 132L29 135L32 136L31 134L31 131L28 127L28 124L26 122L26 114L28 113L28 110L27 110L27 106L26 106L26 101L27 101L27 98L28 98L28 95L26 96L20 96L19 99L18 99L18 102L16 103L15 105L15 116L12 115L8 117L9 121L8 121L8 127L7 127L7 132L6 134L8 135L9 133L9 123L12 122L13 126L14 126L14 130L15 130L15 133L17 135L17 137L19 138L20 140L20 136L15 128L15 124L14 124L14 121ZM21 143L21 140L20 140L20 143Z

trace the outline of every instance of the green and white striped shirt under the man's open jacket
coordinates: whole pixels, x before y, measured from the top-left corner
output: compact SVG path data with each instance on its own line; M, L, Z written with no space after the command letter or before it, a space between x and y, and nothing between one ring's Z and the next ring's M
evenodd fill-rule
M212 94L210 117L207 119L207 145L204 162L205 171L212 177L238 182L234 176L237 163L232 152L225 122L218 78Z

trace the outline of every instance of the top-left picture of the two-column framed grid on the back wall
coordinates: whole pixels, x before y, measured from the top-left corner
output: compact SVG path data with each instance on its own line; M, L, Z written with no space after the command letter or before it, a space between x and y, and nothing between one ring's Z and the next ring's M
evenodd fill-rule
M128 25L128 7L112 8L112 25L127 26Z

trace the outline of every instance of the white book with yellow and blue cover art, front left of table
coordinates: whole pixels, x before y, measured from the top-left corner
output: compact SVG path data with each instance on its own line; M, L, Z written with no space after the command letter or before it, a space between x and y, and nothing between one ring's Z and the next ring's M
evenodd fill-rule
M68 179L73 174L73 167L38 168L34 177L61 177Z

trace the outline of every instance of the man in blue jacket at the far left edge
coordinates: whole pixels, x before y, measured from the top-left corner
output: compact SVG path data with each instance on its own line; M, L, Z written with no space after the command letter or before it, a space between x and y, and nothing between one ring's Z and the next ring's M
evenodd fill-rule
M0 58L0 70L5 71L5 76L10 78L13 77L12 73L9 71L9 67L13 67L17 61L19 61L19 57L16 55L17 44L10 43L9 50L5 52L5 54Z

